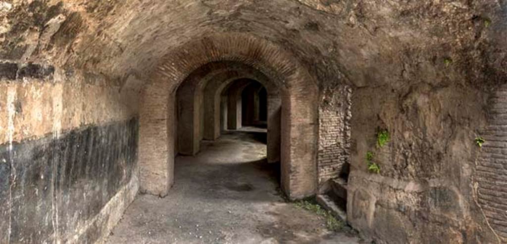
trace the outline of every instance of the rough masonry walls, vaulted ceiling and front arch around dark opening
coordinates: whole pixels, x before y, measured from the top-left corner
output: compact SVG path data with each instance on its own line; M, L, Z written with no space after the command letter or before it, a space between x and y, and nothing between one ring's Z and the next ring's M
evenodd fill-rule
M279 91L288 198L350 166L379 243L507 243L505 0L0 1L0 243L101 241L166 196L175 92L227 62Z

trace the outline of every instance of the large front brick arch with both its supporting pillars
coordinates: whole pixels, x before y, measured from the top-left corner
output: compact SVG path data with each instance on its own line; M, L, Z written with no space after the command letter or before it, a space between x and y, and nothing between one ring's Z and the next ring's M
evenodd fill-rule
M165 196L173 184L176 88L202 65L235 61L279 80L279 87L286 89L281 111L281 187L291 198L314 194L318 87L308 70L291 53L242 33L211 35L173 50L156 67L141 96L141 191Z

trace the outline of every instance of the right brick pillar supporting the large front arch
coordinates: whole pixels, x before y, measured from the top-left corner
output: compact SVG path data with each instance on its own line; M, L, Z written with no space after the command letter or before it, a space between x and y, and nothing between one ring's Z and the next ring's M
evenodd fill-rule
M291 199L317 192L316 94L316 88L307 86L282 95L281 187Z

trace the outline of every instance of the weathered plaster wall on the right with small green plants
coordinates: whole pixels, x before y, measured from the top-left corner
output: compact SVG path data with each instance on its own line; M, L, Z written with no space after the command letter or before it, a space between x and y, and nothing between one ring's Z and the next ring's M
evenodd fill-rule
M490 150L474 142L489 94L427 84L399 92L354 90L349 223L379 243L498 243L473 187L477 154ZM382 147L378 128L390 136ZM378 174L367 169L368 151Z

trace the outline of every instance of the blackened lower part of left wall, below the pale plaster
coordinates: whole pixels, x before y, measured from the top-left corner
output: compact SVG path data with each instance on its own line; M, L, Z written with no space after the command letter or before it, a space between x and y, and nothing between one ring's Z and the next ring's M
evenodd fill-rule
M67 236L96 216L134 174L138 124L88 126L14 143L12 152L0 145L0 243L9 227L11 243L51 242L54 231ZM81 239L93 243L100 231Z

